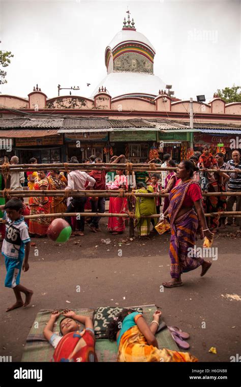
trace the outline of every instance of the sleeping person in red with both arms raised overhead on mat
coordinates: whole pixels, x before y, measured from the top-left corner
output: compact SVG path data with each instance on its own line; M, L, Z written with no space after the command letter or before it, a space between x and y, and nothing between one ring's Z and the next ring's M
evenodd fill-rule
M60 313L51 314L44 328L44 337L54 347L52 362L97 362L95 334L90 317L80 316L73 311L64 314L59 322L59 335L53 333L53 325ZM81 330L79 321L85 325Z

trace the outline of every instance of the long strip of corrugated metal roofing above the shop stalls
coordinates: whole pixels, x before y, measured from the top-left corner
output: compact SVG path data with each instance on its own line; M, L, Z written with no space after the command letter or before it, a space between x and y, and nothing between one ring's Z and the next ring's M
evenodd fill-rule
M12 131L2 131L1 129L12 129ZM20 128L33 128L34 130L21 131ZM39 128L37 130L37 128ZM49 132L41 130L44 128L55 128ZM63 118L0 118L0 133L2 137L44 137L57 133L84 133L84 132L112 132L112 131L161 131L163 133L177 132L203 132L217 134L239 134L241 125L235 124L212 124L194 123L194 129L190 129L189 122L172 121L164 118L145 119L136 118L133 120L109 120L108 118L83 118L83 117L63 117ZM6 132L6 133L5 133Z

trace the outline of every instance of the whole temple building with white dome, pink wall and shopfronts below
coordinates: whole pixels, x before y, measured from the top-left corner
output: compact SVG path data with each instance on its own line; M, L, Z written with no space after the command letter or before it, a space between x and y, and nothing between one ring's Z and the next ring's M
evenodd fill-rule
M204 143L214 150L223 144L228 153L233 137L240 138L241 103L225 103L218 95L205 103L193 101L191 129L190 101L165 90L154 74L155 54L128 14L105 49L107 75L91 96L49 98L38 85L27 98L0 95L1 138L12 139L12 153L21 162L30 157L67 161L73 155L81 160L96 153L108 161L110 150L143 162L159 141L164 142L162 153L179 161L187 156L191 139L196 150Z

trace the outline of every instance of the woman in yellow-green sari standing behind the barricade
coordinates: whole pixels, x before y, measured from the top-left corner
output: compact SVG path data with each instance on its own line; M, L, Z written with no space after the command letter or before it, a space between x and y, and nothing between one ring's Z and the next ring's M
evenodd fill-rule
M136 193L153 193L154 189L152 186L146 186L144 183L137 183ZM151 218L141 218L141 216L148 216L156 214L156 202L153 197L137 197L136 198L136 210L135 210L135 226L138 230L139 236L147 236L150 233L150 221ZM155 225L157 224L157 218L154 218Z

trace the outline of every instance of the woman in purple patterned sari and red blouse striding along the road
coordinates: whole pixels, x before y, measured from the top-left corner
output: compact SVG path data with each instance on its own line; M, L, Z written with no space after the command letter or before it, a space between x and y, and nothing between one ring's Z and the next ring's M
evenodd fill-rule
M202 194L199 184L192 177L198 168L191 161L182 161L177 167L178 178L169 195L170 204L163 214L171 225L169 256L171 259L171 280L163 282L165 287L182 286L181 275L202 266L201 277L206 274L211 261L196 256L196 232L198 219L203 233L210 241L213 233L208 229L202 207ZM193 209L195 206L195 210Z

